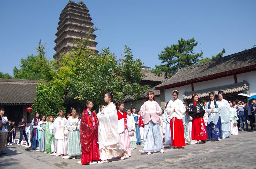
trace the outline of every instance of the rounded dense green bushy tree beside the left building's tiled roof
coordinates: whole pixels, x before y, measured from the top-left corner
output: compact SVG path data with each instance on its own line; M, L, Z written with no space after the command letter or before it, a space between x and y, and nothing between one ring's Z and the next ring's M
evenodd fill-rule
M58 116L58 109L65 110L64 100L58 94L55 87L51 87L47 83L40 83L36 90L36 99L34 99L33 112L38 112L40 115L54 117Z

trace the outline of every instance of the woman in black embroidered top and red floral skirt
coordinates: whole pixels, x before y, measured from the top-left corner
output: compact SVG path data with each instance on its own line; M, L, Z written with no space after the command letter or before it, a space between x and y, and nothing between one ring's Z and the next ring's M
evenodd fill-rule
M192 140L197 140L197 144L199 144L199 140L201 140L202 143L206 143L205 140L207 139L207 132L203 118L205 114L205 107L202 103L197 102L198 94L192 94L192 98L194 101L188 106L188 113L193 117Z

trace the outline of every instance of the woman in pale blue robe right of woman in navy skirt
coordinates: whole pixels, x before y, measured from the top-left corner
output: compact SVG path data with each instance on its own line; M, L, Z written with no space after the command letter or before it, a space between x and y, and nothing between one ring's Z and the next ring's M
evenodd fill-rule
M220 120L221 120L221 130L222 138L230 136L230 105L227 100L223 99L223 91L218 93L218 103L220 104Z

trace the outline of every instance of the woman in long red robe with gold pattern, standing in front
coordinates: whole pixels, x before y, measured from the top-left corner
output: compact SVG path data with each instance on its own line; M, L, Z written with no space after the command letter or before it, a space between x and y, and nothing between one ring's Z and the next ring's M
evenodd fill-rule
M87 109L83 111L81 116L81 148L82 157L78 164L97 164L96 161L100 161L99 144L98 142L98 126L99 120L95 112L91 109L93 102L87 100Z

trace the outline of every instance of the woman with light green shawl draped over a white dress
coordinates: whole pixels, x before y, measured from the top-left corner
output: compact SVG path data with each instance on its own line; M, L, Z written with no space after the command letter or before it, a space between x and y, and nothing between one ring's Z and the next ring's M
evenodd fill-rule
M45 148L46 148L46 154L55 153L55 138L54 138L54 123L53 123L53 117L48 116L48 120L45 127Z

